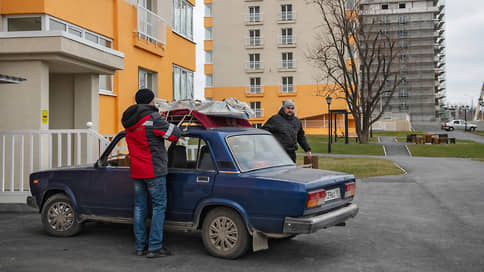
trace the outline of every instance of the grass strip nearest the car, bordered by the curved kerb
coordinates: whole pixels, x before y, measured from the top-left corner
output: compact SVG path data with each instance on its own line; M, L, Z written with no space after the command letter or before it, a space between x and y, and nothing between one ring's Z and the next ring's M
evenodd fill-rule
M301 165L302 163L303 156L298 156L297 164ZM350 173L357 178L405 173L395 163L385 159L319 157L318 165L319 169Z

